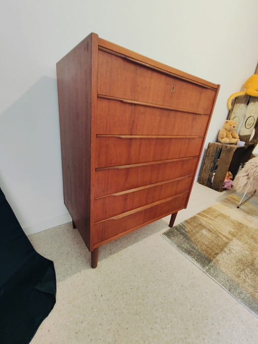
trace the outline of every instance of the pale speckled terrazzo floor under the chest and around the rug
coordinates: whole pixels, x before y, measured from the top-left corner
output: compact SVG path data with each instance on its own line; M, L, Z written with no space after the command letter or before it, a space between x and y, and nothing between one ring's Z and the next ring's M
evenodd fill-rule
M175 224L228 196L195 183ZM29 236L53 260L56 304L32 344L258 342L258 318L170 245L170 216L100 247L96 269L72 223Z

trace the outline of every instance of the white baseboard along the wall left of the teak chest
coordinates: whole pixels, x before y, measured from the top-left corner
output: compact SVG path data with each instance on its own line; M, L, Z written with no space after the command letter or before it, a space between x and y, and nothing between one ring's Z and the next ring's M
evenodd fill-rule
M70 216L70 214L67 213L60 216L44 219L43 221L37 222L30 226L25 226L25 227L22 226L22 228L23 228L24 233L27 236L29 236L29 235L48 230L49 228L56 227L56 226L59 226L60 224L64 224L71 221L72 221L72 217Z

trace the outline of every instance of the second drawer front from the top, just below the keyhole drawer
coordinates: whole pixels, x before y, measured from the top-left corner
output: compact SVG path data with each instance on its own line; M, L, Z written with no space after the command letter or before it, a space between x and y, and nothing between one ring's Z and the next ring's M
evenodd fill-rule
M210 116L98 98L96 128L109 135L205 135Z

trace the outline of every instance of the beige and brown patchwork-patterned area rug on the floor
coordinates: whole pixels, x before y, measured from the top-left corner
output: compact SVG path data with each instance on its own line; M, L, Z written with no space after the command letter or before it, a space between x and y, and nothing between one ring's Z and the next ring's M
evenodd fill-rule
M162 234L258 316L258 198L231 194Z

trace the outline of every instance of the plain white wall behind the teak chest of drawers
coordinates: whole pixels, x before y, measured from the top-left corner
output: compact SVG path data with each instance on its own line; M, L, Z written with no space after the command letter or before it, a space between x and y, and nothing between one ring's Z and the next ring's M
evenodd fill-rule
M257 0L3 0L0 187L25 233L67 222L55 64L90 32L221 84L206 140L258 57Z

